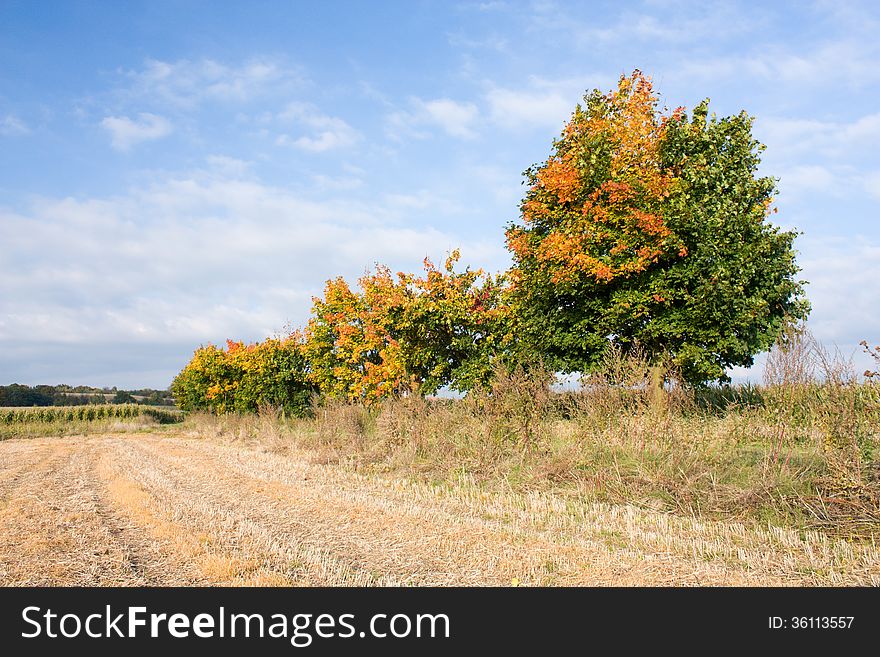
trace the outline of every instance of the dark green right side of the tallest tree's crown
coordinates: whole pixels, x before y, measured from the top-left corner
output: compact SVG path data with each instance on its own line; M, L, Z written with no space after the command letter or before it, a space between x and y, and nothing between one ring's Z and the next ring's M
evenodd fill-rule
M758 177L764 147L751 136L752 119L706 119L707 104L671 121L664 164L676 170L681 192L671 197L670 225L688 257L652 281L669 303L634 337L673 354L691 380L724 378L724 369L753 364L785 324L809 305L795 279L795 234L766 221L775 193Z

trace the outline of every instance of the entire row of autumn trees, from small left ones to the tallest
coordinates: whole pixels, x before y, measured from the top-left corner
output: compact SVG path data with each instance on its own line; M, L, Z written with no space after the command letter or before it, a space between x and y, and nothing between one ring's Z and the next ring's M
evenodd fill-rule
M809 306L795 234L767 219L775 180L746 113L660 108L641 72L578 105L529 168L507 226L513 267L492 276L425 260L353 289L328 281L303 331L208 346L175 379L184 408L301 412L314 392L372 402L486 384L496 363L588 372L638 345L692 383L749 366ZM283 356L281 354L284 354Z

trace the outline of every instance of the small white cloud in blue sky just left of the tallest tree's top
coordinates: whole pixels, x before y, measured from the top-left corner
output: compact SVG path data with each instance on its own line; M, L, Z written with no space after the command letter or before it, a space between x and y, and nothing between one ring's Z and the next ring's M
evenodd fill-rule
M474 124L479 119L480 110L473 103L462 103L451 98L411 98L409 106L406 111L393 112L388 116L388 132L392 137L425 138L433 128L440 128L450 137L459 139L476 136Z

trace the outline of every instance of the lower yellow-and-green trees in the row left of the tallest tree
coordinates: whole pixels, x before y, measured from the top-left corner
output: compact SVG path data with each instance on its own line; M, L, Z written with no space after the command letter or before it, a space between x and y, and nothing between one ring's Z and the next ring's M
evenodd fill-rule
M313 394L372 403L444 386L488 383L510 341L509 288L481 270L392 274L379 266L352 289L328 281L304 331L196 350L171 390L186 410L249 412L262 405L301 415Z

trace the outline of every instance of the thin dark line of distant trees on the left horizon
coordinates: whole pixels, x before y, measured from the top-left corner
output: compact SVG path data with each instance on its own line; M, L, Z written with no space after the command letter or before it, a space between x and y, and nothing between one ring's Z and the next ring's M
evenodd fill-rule
M119 390L90 386L26 386L13 383L0 386L0 406L82 406L85 404L146 404L172 406L174 398L167 390L141 388Z

